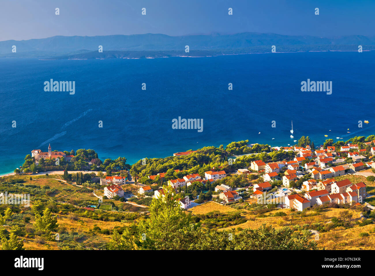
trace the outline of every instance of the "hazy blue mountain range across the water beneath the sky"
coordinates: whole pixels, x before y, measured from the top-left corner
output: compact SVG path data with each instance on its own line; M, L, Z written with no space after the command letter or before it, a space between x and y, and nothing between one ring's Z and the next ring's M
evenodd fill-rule
M16 45L17 52L12 53ZM103 46L103 53L98 46ZM190 52L185 53L185 45ZM285 51L375 50L375 36L289 36L274 33L237 33L234 35L168 36L163 34L109 36L53 36L30 40L0 41L1 57L42 58L141 58L162 56L212 56L219 54L267 53ZM101 55L99 55L101 54Z

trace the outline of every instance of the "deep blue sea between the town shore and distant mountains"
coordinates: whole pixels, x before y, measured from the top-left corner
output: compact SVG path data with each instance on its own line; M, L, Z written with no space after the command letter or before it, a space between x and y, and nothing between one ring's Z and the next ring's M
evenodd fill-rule
M52 150L91 148L102 160L125 156L132 164L245 139L281 146L302 135L315 145L326 139L324 134L334 140L368 136L375 134L374 72L375 52L3 58L0 173L22 165L32 149L47 151L49 143ZM43 83L51 78L75 81L75 94L45 92ZM308 78L332 81L332 94L301 92L301 81ZM172 129L178 116L203 119L203 131ZM370 123L358 128L359 120Z

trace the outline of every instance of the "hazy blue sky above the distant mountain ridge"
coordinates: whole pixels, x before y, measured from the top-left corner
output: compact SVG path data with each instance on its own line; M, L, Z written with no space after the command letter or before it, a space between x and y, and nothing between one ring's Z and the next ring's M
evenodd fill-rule
M141 33L374 35L374 11L370 0L1 0L0 41Z

